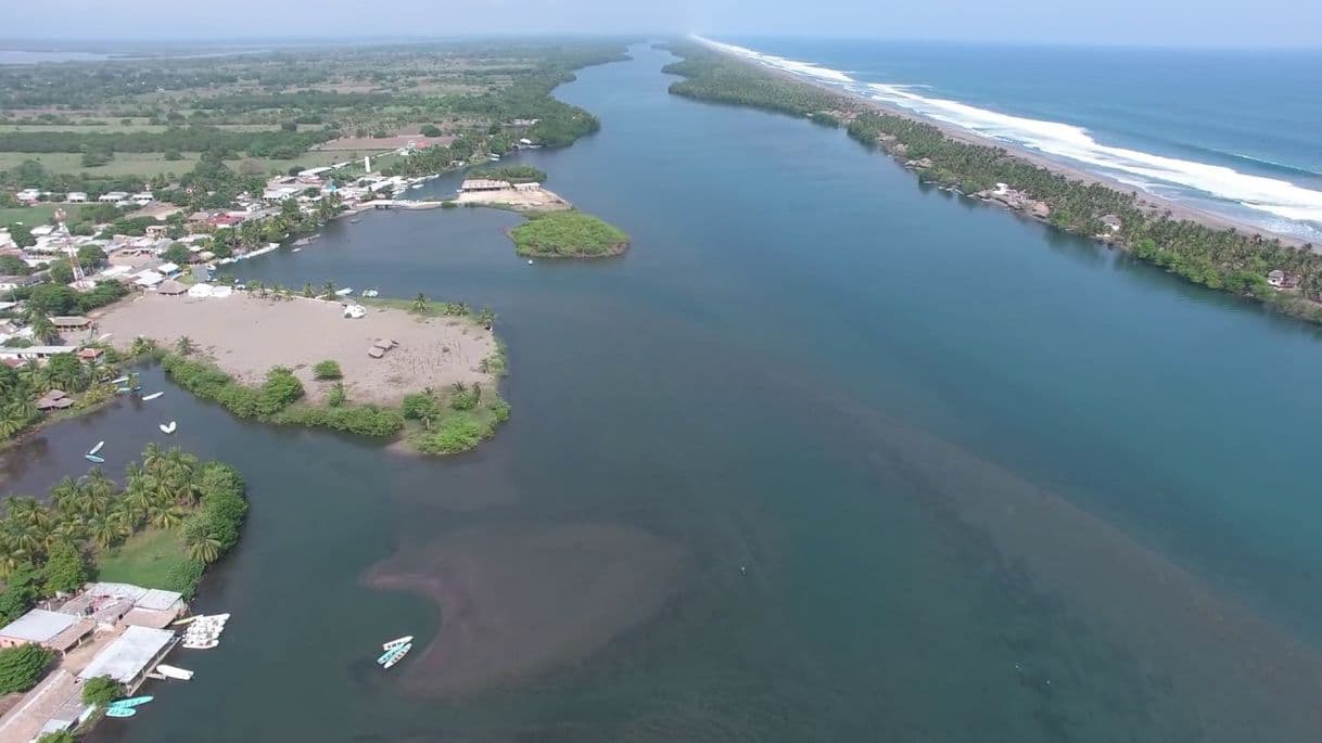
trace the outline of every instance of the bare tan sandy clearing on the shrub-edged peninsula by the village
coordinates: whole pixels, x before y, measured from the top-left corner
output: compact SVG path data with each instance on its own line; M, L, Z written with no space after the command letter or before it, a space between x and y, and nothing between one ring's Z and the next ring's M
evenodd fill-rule
M288 366L312 401L329 391L312 378L312 366L332 358L344 372L353 402L398 403L407 393L496 379L480 370L496 353L490 331L459 317L419 317L402 309L369 307L368 316L346 320L342 305L295 297L256 299L235 292L225 299L148 293L94 316L111 344L127 349L134 338L155 338L172 348L188 336L198 350L243 381L258 385L272 366ZM383 358L368 349L379 338L399 344Z

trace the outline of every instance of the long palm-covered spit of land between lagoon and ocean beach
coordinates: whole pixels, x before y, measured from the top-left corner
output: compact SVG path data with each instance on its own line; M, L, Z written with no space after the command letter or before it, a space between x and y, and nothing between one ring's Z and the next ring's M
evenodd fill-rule
M773 73L697 42L665 71L686 79L670 93L751 106L822 123L847 122L849 136L899 159L931 184L1021 209L1073 234L1100 238L1137 258L1214 290L1322 323L1322 255L1261 234L1175 215L1133 192L1088 182L1002 147L968 141L911 115Z

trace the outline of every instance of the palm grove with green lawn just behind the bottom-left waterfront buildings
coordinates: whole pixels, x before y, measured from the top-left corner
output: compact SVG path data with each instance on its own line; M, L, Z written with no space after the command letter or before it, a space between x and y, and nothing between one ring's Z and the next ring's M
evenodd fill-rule
M93 468L46 496L4 501L0 624L97 576L192 598L206 566L238 543L247 513L233 467L156 444L128 464L123 488Z

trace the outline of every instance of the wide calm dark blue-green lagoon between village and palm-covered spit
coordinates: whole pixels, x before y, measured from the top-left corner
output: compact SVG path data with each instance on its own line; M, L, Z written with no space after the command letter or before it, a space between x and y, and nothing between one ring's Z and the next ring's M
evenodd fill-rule
M94 738L1315 739L1318 333L632 52L558 91L600 134L522 159L625 256L527 266L518 217L460 209L242 266L489 304L493 442L412 459L149 372L3 463L33 492L168 416L250 481L221 648Z

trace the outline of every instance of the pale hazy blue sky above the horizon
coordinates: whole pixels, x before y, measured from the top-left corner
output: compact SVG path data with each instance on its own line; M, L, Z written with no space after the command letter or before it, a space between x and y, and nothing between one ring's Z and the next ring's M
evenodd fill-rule
M0 37L697 32L1178 46L1322 46L1309 0L0 0Z

